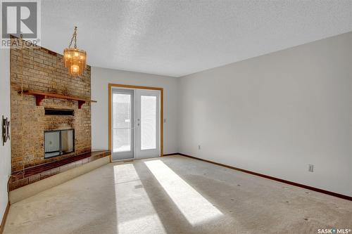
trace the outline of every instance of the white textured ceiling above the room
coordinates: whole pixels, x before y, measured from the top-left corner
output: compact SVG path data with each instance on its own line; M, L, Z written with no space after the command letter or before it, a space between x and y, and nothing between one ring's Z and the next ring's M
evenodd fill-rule
M89 65L181 77L352 31L352 1L42 0L42 46L78 27Z

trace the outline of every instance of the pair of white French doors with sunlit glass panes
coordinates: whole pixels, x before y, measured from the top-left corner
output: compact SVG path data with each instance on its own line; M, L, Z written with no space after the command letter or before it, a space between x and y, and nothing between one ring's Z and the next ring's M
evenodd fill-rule
M161 155L161 91L111 87L111 160Z

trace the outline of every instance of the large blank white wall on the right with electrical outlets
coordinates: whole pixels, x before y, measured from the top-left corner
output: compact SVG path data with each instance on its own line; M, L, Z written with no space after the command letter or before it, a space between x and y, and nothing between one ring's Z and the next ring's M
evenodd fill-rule
M351 196L351 67L348 33L182 77L180 152Z

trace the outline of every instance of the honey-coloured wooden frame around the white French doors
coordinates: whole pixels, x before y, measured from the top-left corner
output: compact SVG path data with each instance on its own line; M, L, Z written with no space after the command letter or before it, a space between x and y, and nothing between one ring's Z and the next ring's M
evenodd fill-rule
M149 89L149 90L157 90L160 91L160 156L163 157L164 155L164 89L158 87L149 87L149 86L135 86L135 85L128 85L128 84L108 84L108 105L109 105L109 112L108 112L108 141L109 141L109 150L111 151L110 154L110 162L112 162L112 150L111 150L111 90L113 87L117 88L125 88L125 89Z

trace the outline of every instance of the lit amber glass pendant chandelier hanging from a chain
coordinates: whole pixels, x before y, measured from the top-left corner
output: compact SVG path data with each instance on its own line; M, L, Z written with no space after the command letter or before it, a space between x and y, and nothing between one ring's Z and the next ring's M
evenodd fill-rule
M75 44L71 48L73 41L75 41ZM82 75L86 67L87 53L77 48L77 27L75 27L75 32L73 32L70 45L63 51L63 59L65 67L68 68L68 73L73 76Z

